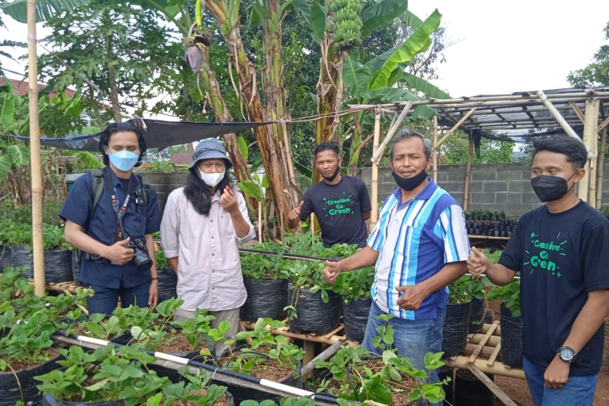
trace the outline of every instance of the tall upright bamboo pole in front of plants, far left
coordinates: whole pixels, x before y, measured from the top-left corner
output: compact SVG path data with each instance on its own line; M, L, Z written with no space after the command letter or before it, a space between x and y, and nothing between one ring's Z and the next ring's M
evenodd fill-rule
M34 293L44 296L44 242L42 202L44 190L40 160L40 124L38 122L38 56L36 41L36 1L27 0L27 70L30 114L30 167L32 175L32 243Z

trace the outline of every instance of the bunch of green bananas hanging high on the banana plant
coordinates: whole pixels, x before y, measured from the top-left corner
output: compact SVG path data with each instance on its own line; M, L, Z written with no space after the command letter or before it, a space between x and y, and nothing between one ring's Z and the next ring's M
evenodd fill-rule
M340 51L348 51L362 43L362 11L361 0L333 0L330 10L333 12L332 22L334 43Z

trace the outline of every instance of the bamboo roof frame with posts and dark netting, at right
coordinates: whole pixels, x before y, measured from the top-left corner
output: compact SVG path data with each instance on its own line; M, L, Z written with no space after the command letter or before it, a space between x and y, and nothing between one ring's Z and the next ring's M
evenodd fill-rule
M604 154L598 155L600 138L600 150L604 151L607 141L607 127L609 127L609 85L592 89L551 89L537 92L526 91L512 94L479 95L471 97L460 97L457 99L420 99L407 102L382 103L376 105L352 104L347 105L349 110L373 110L375 111L375 139L379 138L380 113L394 114L391 130L385 137L383 144L375 142L372 160L372 184L373 200L376 201L376 184L378 183L378 161L382 156L382 150L389 138L396 132L394 125L396 117L400 114L403 119L410 109L426 105L434 108L437 115L434 116L434 178L437 177L437 149L449 136L457 130L462 129L468 133L470 142L468 147L468 162L465 177L465 195L463 209L468 209L468 190L471 181L471 161L473 155L473 131L478 134L492 138L493 134L487 131L501 131L507 136L538 136L547 134L547 131L559 128L559 132L573 138L581 139L588 151L588 162L586 163L586 175L580 181L578 197L584 201L590 201L591 205L600 208L602 204L602 163ZM398 124L399 125L399 124ZM450 128L437 139L438 127ZM578 131L574 130L574 127ZM544 131L544 132L538 132ZM579 134L582 136L580 137ZM599 136L600 135L600 136ZM600 164L600 167L598 166ZM375 176L376 175L376 176ZM378 212L373 210L371 223L376 223Z

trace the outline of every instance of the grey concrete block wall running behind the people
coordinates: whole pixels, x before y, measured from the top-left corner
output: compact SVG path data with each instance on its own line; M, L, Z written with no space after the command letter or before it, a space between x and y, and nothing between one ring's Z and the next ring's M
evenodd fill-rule
M603 186L603 206L609 205L609 162L605 163ZM357 170L371 189L371 169ZM161 212L165 208L167 196L171 191L184 186L188 172L144 172L141 173L157 190ZM431 176L431 172L429 173ZM505 211L507 214L520 215L541 205L530 186L530 164L474 165L471 167L470 210ZM465 165L438 166L438 184L449 192L461 205L465 192ZM378 201L382 201L397 185L391 170L379 168Z

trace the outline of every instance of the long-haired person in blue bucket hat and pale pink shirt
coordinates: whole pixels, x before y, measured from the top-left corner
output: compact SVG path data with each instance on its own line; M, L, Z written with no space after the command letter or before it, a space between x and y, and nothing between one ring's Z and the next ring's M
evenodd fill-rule
M209 309L211 324L230 323L225 340L233 340L239 325L239 308L247 292L241 275L237 242L254 237L245 199L231 187L233 166L216 139L199 142L192 156L186 186L169 194L161 222L161 246L178 276L177 293L184 303L175 320L195 317ZM228 349L223 340L215 355Z

